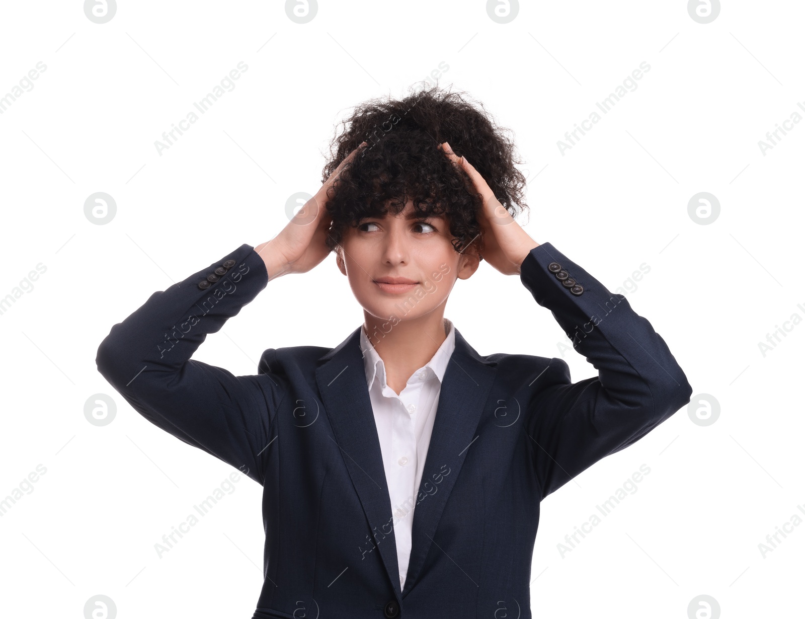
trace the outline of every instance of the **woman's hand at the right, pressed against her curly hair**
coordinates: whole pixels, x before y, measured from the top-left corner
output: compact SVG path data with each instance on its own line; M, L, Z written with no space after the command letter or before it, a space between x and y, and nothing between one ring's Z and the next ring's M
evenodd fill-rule
M478 223L481 225L483 241L479 253L502 274L520 274L522 261L526 259L530 250L539 246L539 243L531 238L517 221L514 221L506 207L497 200L484 177L465 157L457 156L448 142L443 142L440 147L448 159L469 175L475 190L481 194L483 206Z

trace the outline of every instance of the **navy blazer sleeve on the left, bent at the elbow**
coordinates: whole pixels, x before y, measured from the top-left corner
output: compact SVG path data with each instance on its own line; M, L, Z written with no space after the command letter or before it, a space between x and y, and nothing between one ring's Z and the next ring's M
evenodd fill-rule
M140 415L262 485L260 462L282 398L272 381L233 376L190 357L268 283L250 245L155 292L97 350L98 371ZM263 369L259 370L261 373Z

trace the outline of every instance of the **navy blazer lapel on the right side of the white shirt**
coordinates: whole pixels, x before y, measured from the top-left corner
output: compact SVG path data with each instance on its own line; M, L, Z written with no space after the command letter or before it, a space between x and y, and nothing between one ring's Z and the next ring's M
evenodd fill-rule
M456 329L456 349L444 372L431 443L416 498L423 497L423 500L414 508L411 559L403 596L411 591L422 571L444 506L456 484L464 458L477 438L481 412L497 371L495 365L497 362L483 359Z

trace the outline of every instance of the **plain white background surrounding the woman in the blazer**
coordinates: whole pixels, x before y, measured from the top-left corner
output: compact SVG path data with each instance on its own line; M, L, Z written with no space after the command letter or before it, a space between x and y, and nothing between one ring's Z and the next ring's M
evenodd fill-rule
M765 356L758 343L805 318L805 123L765 154L758 141L805 118L805 6L725 2L701 24L686 4L523 2L501 24L478 0L321 0L299 24L283 2L140 0L97 24L81 2L4 3L0 96L47 69L0 114L0 298L47 270L0 314L0 497L37 464L47 473L0 518L2 615L84 617L102 594L118 617L251 616L261 487L242 477L160 559L155 543L234 469L138 415L97 372L97 346L154 291L274 237L288 196L320 186L351 106L402 97L440 62L440 85L514 131L526 231L610 290L650 266L626 298L694 397L720 404L712 425L683 408L543 501L535 616L684 619L701 594L723 617L801 613L805 526L765 558L758 544L805 518L805 324ZM236 88L159 155L155 140L240 61ZM562 154L557 141L643 61L638 88ZM105 225L85 217L94 192L116 201ZM698 192L720 202L709 225L688 215ZM574 380L596 374L518 278L489 265L457 283L445 315L481 354L563 357ZM271 282L194 358L256 373L264 349L335 346L361 320L330 256ZM118 405L104 427L84 415L98 393ZM638 491L560 555L641 464Z

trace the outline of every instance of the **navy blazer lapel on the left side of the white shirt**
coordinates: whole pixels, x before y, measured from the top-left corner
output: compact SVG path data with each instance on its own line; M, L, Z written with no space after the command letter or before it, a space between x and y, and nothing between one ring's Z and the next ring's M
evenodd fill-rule
M344 458L349 477L361 500L369 528L370 542L356 540L361 547L377 546L391 584L401 594L397 543L391 515L391 498L380 450L372 402L366 385L361 352L361 327L335 349L321 357L316 368L316 382L324 410L335 434L335 442Z

